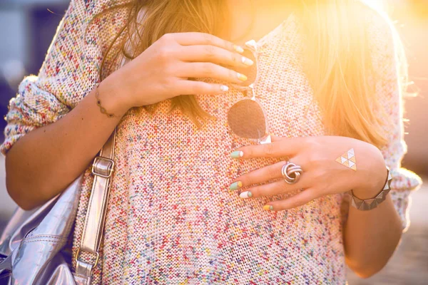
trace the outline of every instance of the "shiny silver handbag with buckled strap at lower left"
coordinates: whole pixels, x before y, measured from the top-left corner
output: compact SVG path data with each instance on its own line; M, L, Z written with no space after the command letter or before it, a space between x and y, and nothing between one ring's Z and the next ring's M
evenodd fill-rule
M93 160L94 175L76 272L71 271L71 237L81 192L80 175L61 194L31 211L18 208L0 237L0 285L91 284L92 267L78 259L95 254L101 243L106 206L114 169L116 129Z

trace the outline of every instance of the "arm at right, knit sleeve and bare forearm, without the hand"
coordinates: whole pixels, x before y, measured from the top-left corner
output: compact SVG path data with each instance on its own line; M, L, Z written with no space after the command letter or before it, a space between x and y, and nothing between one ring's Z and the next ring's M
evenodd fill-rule
M387 199L370 211L359 211L350 207L345 222L344 243L348 266L361 277L369 277L382 269L392 257L407 227L405 212L410 190L421 181L417 175L401 168L401 160L407 152L404 142L403 99L399 84L399 58L397 51L397 31L389 26L389 21L374 11L368 17L368 36L374 71L378 73L375 86L376 96L385 113L381 114L387 124L387 145L382 147L384 163L392 174L392 185ZM389 118L385 118L387 115ZM382 159L379 158L379 159ZM386 175L386 174L385 174ZM355 196L372 198L379 189L367 187ZM360 197L361 196L361 197Z

